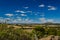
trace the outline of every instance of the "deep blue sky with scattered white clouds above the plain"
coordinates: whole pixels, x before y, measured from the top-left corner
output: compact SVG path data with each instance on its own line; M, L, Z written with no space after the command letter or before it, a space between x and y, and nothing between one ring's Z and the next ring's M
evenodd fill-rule
M0 0L0 22L60 23L60 0Z

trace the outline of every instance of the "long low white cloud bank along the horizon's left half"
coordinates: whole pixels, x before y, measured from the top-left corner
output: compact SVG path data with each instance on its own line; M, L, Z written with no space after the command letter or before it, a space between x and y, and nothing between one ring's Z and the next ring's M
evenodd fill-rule
M17 17L16 19L12 19L12 18L0 18L0 23L5 23L7 20L9 20L7 23L33 23L32 19L21 18L21 17Z

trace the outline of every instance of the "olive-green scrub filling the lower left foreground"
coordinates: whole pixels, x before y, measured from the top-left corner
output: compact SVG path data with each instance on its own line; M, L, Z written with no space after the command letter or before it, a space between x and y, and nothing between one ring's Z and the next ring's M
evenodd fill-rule
M22 29L14 29L13 27L0 27L0 40L32 40L31 36Z

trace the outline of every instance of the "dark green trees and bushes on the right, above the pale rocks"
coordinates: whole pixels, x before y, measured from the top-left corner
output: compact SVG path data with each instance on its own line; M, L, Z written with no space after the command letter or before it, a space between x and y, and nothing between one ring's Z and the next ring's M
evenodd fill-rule
M38 39L49 35L60 36L60 30L56 28L46 28L37 26L35 27L34 32L37 35Z

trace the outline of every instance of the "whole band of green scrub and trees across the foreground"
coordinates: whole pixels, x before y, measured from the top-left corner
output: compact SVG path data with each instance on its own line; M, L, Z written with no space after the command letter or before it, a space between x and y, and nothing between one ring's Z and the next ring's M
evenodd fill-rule
M59 28L36 26L32 32L26 32L23 28L8 28L7 24L0 24L0 40L35 40L49 35L60 36Z

